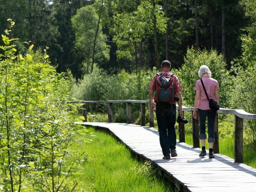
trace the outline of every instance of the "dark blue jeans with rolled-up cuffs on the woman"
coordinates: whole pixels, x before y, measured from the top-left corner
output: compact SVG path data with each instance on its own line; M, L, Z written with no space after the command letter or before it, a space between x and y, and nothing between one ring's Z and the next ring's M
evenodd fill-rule
M202 109L197 109L198 111L198 117L199 117L199 125L200 125L200 134L199 134L199 139L206 139L206 117L208 119L208 142L214 142L215 137L214 137L214 121L215 117L217 115L217 111L208 109L208 110L202 110Z

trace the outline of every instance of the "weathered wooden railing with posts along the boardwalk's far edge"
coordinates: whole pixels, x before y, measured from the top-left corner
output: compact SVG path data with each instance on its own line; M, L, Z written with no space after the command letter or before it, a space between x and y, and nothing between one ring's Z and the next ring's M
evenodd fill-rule
M140 113L141 113L141 121L140 125L145 126L145 103L148 103L149 100L108 100L108 101L71 101L70 103L83 103L83 116L85 121L87 121L87 110L86 104L89 103L108 103L108 123L113 123L113 114L112 114L112 104L113 103L126 103L126 114L127 114L127 124L132 123L131 118L131 103L140 103ZM178 109L177 105L177 109ZM191 112L192 119L192 137L193 137L193 147L199 148L199 123L198 119L193 118L193 107L185 107L182 106L182 110ZM149 108L149 127L154 127L154 111ZM234 138L234 156L235 162L243 163L243 122L244 119L254 119L256 120L256 114L251 114L245 112L243 109L226 109L220 108L218 110L220 114L234 114L235 116L235 138ZM215 153L219 153L219 129L218 129L218 114L215 118L214 123L214 135L215 135L215 143L213 146L213 151ZM179 141L185 142L185 130L184 124L179 123Z

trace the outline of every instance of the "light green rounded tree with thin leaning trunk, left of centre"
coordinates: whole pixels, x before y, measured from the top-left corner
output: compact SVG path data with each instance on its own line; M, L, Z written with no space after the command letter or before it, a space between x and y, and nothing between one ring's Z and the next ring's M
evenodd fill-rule
M71 18L72 27L75 30L75 48L77 53L84 57L86 63L85 72L89 73L89 66L92 63L93 50L95 58L108 60L109 48L106 44L106 35L102 33L99 17L92 5L82 7L77 10L76 15ZM95 40L94 37L96 36ZM93 48L94 46L94 48ZM92 65L91 65L91 68Z

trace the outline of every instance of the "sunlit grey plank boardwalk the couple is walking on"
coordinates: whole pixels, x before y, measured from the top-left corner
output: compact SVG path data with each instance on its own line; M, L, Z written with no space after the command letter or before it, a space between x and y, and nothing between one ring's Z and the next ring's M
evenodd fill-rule
M241 191L256 192L256 169L234 163L234 159L215 154L214 159L199 157L200 148L193 148L177 140L177 157L162 159L158 132L154 128L119 123L79 123L107 129L136 155L152 161L162 174L180 191Z

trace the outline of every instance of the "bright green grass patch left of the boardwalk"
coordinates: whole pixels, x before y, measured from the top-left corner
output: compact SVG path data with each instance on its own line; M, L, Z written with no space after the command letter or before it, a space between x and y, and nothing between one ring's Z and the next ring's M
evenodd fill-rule
M84 128L70 149L70 162L85 151L77 161L80 173L74 176L79 191L174 191L151 163L138 163L129 149L108 133Z

